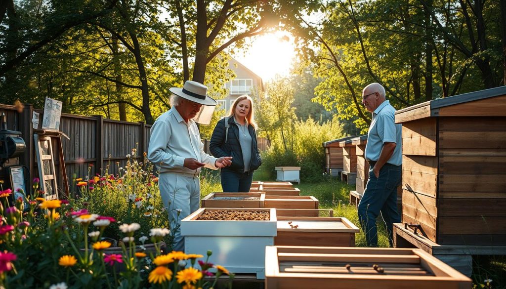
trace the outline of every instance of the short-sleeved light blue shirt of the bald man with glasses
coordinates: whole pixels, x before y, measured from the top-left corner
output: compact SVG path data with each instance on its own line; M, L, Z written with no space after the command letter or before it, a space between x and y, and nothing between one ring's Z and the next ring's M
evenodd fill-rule
M402 125L395 123L395 108L390 105L389 100L382 102L372 112L372 121L365 145L365 158L377 161L383 144L386 142L396 143L394 153L387 163L400 166L402 164Z

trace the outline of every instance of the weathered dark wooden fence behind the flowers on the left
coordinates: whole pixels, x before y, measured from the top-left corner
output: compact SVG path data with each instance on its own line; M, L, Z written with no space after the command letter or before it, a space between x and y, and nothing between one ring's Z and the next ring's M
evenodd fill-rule
M39 122L42 122L44 111L34 109L26 104L21 112L12 105L0 104L0 113L7 116L8 129L20 131L26 144L26 150L20 157L20 164L29 170L25 184L38 175L35 159L32 116L33 111L40 113ZM40 125L39 125L40 127ZM119 167L126 164L127 154L132 154L132 149L137 148L137 160L142 161L143 152L147 152L150 139L151 125L144 122L127 122L104 118L102 115L83 116L62 113L60 119L60 131L67 135L70 140L62 138L62 150L65 159L65 167L69 185L72 186L73 178L85 178L95 174L103 174L103 170L109 166L109 174L117 174ZM204 150L209 149L209 141L204 142ZM265 150L268 147L267 140L259 139L259 148ZM55 170L60 171L58 161L59 154L53 142L53 155ZM63 180L58 176L58 187L62 188ZM28 186L30 187L30 186ZM62 191L59 189L60 192Z

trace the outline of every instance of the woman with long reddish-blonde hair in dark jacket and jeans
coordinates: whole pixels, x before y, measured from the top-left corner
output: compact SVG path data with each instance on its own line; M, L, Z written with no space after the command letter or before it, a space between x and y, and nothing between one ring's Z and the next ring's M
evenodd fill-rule
M218 121L209 143L215 157L232 156L232 164L221 169L224 192L249 192L253 171L262 164L252 104L248 95L238 97L229 115Z

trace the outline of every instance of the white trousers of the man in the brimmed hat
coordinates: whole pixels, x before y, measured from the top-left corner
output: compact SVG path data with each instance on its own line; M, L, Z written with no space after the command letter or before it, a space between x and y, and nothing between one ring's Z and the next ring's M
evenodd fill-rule
M174 235L173 250L184 252L185 240L180 229L175 229L182 219L200 208L200 179L183 173L160 173L158 187ZM181 210L179 216L178 210Z

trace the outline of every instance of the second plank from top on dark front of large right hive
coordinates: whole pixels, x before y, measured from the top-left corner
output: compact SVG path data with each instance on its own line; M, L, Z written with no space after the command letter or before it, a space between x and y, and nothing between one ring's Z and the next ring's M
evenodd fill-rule
M506 132L440 132L440 149L447 148L506 148Z

